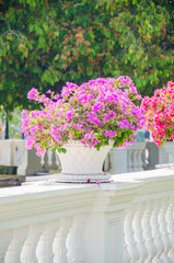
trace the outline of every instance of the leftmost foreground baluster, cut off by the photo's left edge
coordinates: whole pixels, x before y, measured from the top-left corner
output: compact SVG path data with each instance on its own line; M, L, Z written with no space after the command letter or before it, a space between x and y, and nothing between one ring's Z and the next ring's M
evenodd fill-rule
M12 239L12 230L0 233L0 263L4 263L4 255Z

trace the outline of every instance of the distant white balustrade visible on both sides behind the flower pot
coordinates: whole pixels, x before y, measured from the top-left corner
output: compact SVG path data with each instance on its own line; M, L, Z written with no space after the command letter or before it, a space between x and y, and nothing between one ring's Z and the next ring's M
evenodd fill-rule
M154 142L134 142L124 149L113 148L108 153L104 170L112 174L155 169L155 164L174 162L174 144L158 147ZM60 170L55 152L47 150L44 158L36 156L35 149L27 150L22 139L0 140L0 164L16 165L19 175Z

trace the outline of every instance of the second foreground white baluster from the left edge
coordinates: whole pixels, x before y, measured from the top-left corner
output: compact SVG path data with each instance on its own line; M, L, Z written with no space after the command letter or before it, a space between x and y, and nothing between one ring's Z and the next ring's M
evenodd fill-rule
M4 258L4 263L20 263L21 262L21 251L22 247L24 244L24 241L27 237L27 228L22 227L22 228L16 228L13 230L13 237L11 240L11 243L8 248L5 258Z

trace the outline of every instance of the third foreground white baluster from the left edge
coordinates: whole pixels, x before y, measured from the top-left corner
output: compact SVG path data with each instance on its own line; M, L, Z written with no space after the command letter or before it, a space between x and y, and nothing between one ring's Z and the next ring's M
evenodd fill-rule
M43 224L31 225L28 228L28 237L21 252L22 263L37 263L36 247L38 239L43 232Z

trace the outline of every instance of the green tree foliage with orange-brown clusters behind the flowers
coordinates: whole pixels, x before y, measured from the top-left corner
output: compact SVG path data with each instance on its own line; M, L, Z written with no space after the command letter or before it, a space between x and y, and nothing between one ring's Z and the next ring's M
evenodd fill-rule
M0 0L0 104L28 106L33 87L128 75L142 95L174 77L174 2Z

